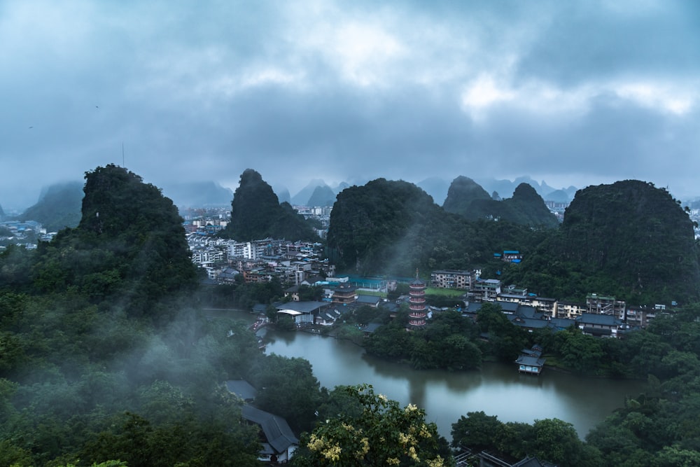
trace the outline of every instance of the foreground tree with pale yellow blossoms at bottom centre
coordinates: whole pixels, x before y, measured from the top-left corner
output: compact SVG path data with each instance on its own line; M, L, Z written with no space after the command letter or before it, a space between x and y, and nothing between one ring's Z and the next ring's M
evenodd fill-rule
M451 465L444 439L434 423L426 423L426 412L409 404L401 408L395 400L375 394L372 386L342 386L358 401L359 415L338 414L319 423L302 436L302 446L293 458L295 466L428 466Z

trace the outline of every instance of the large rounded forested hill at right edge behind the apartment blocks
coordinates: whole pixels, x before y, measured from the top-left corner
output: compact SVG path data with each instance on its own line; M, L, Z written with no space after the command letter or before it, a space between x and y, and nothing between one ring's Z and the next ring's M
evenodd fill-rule
M700 296L692 221L666 190L636 180L579 190L557 235L505 277L559 298L597 291L645 304Z

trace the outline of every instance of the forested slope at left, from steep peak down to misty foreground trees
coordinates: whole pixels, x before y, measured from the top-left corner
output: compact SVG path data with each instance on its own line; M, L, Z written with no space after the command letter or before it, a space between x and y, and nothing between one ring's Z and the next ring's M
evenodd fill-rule
M259 465L258 428L221 386L265 375L255 335L201 315L158 188L113 165L85 179L76 228L0 253L0 465ZM308 374L300 391L320 394Z

